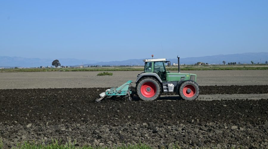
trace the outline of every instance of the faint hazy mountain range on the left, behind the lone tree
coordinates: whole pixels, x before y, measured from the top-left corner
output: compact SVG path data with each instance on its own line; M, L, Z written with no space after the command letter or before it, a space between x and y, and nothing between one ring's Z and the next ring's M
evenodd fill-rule
M55 58L22 58L0 56L0 67L40 67L51 66ZM60 64L63 66L73 66L82 63L97 63L95 60L80 60L74 58L59 58Z

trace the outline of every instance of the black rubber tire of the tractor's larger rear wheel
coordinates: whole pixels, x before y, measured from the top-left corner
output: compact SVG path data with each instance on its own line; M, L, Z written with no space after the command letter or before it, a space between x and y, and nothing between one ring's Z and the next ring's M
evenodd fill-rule
M155 94L152 97L145 97L143 95L144 91L142 94L141 87L144 85L144 83L150 83L150 84L155 85ZM147 91L147 92L150 92L150 91ZM136 93L137 93L138 97L144 101L152 101L152 100L158 99L161 95L161 91L162 91L161 84L158 82L158 80L156 80L153 77L144 77L144 78L140 79L138 81L138 83L136 83Z

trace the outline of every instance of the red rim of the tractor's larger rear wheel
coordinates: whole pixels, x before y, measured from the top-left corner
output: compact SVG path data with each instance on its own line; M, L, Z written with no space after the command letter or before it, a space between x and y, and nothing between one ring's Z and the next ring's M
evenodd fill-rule
M156 86L152 82L145 82L141 85L141 94L144 97L150 98L156 94Z

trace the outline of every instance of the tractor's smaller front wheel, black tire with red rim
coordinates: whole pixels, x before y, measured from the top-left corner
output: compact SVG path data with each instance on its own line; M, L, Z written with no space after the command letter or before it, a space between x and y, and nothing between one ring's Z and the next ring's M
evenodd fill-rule
M190 89L187 92L187 89ZM182 97L183 100L195 100L199 96L199 86L196 82L187 80L180 84L178 89L179 96Z

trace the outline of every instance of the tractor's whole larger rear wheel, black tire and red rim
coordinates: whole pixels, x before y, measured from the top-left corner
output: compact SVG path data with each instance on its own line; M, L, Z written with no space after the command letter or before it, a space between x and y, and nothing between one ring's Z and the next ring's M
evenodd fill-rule
M153 77L144 77L136 84L138 97L144 101L156 100L161 95L161 85Z

